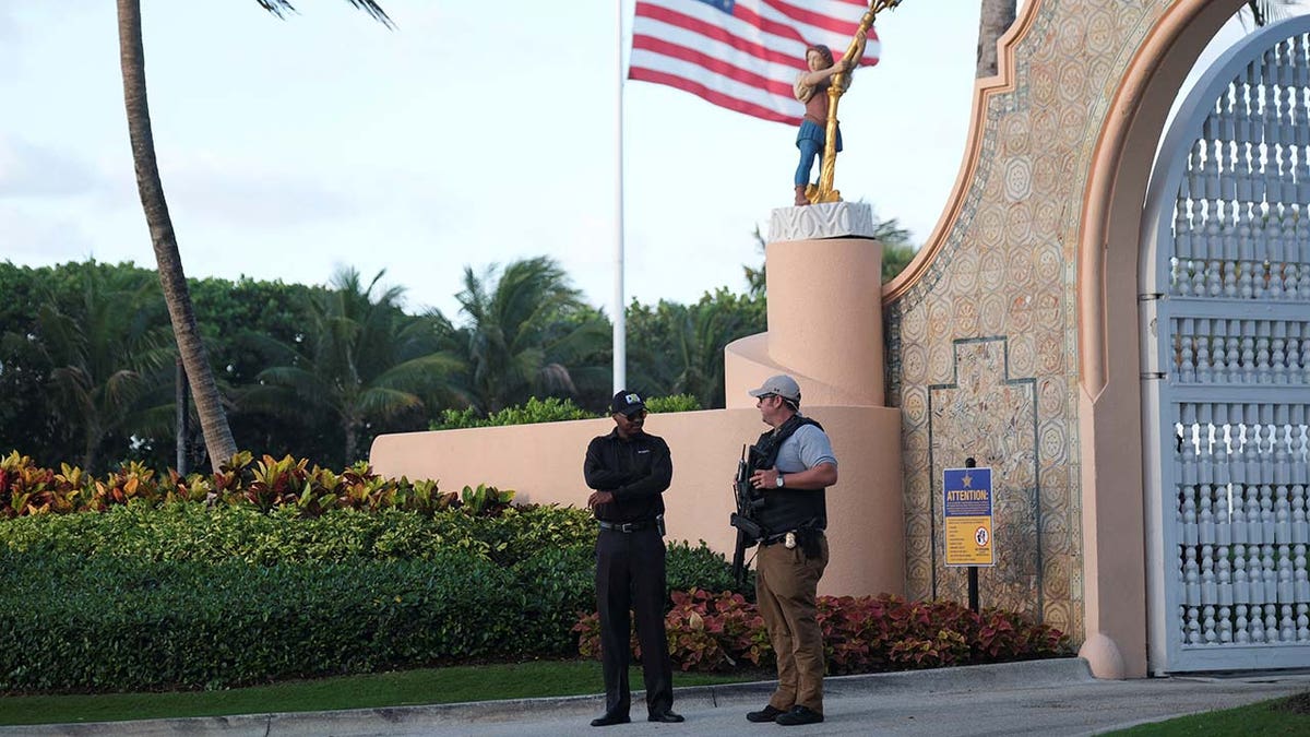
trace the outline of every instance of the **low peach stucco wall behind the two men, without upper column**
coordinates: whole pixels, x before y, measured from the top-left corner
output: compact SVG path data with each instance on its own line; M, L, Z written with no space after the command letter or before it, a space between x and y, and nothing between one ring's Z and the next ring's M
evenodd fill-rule
M832 437L840 480L828 490L831 561L824 594L905 591L900 412L882 407L814 407L806 413ZM445 490L490 484L519 502L584 506L587 443L610 420L381 435L369 459L384 476L438 479ZM741 445L766 429L756 409L652 414L646 428L668 442L673 484L664 493L671 540L705 540L732 555L731 481Z

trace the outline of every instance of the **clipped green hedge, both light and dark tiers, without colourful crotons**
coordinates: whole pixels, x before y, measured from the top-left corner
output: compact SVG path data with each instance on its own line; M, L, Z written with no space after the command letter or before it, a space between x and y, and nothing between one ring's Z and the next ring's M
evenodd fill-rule
M578 653L591 515L130 504L0 521L0 691L206 688ZM731 585L705 543L671 589Z

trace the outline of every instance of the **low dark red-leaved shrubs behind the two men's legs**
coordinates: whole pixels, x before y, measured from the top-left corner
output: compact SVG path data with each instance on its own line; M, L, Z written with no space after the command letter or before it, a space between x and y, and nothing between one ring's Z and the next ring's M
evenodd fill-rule
M694 589L672 598L665 629L677 667L714 671L773 664L764 618L740 594ZM909 602L892 594L819 597L816 619L833 675L1072 654L1058 629L1001 610L975 614L955 602ZM574 632L579 652L599 657L600 615L582 616ZM631 645L639 656L635 636Z

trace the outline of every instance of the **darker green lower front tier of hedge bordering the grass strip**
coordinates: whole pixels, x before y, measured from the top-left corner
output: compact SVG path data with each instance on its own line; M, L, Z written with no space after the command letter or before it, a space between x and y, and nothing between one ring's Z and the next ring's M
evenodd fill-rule
M212 688L532 652L491 561L258 567L0 553L0 690ZM496 614L499 612L499 614Z

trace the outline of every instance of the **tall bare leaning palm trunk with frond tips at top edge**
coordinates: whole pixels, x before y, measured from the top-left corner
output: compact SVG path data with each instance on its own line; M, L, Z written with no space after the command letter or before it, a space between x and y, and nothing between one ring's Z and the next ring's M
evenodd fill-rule
M287 0L255 0L263 9L282 17L295 10ZM372 0L347 0L380 22L390 25L390 20ZM227 414L219 397L208 355L200 342L195 324L195 311L182 271L182 257L177 248L177 233L164 198L164 184L160 180L159 164L155 157L155 135L151 130L151 111L145 96L145 51L141 43L141 3L140 0L118 0L118 52L123 71L123 102L127 108L127 131L132 144L132 161L136 168L136 189L145 211L145 223L151 231L151 244L155 248L155 261L159 265L160 283L164 287L164 300L168 303L169 317L173 321L173 336L177 340L182 365L191 383L191 396L204 433L204 445L210 452L210 463L217 471L219 466L236 454Z

